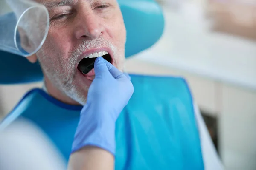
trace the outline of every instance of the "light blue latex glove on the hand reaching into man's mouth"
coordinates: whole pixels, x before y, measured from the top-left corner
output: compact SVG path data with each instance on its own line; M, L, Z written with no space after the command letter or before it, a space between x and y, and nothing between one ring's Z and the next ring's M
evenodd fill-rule
M76 129L72 153L84 146L96 146L115 155L116 119L133 94L133 85L125 74L98 57L95 79L87 95Z

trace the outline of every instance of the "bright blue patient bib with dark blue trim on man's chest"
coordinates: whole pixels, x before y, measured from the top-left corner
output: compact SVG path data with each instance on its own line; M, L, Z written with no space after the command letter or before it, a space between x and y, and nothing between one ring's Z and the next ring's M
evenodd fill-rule
M134 94L116 122L116 170L203 170L192 96L178 77L131 75ZM27 93L2 122L34 122L68 161L81 106L41 89Z

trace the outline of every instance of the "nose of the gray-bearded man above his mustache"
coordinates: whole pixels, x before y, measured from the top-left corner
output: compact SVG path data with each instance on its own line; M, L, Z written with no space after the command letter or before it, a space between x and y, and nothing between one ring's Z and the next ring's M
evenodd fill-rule
M104 31L104 26L101 23L100 18L93 13L93 11L87 11L77 16L76 38L82 39L96 39Z

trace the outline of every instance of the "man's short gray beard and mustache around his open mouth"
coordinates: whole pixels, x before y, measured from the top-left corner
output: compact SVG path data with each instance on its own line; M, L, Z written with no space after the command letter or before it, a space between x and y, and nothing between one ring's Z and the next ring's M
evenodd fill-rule
M62 63L62 69L65 70L61 71L59 69L55 69L55 67L51 67L52 63L60 62L59 60L55 61L53 57L47 57L48 55L45 53L44 47L42 47L37 55L38 55L38 60L41 63L41 67L44 70L44 74L47 76L47 78L50 80L50 82L55 86L55 88L58 88L62 94L70 97L76 102L79 102L81 105L85 105L87 102L87 97L84 94L84 92L88 92L89 87L84 86L83 89L80 89L73 85L74 81L74 76L76 73L76 62L79 56L81 54L90 48L97 48L100 47L101 45L106 45L110 47L113 51L113 57L118 58L114 59L115 65L117 65L117 68L121 71L124 69L124 61L125 57L124 55L117 56L118 54L124 54L121 51L118 51L111 43L105 41L103 38L99 38L98 40L94 40L91 42L84 41L79 47L70 53L69 59L65 62ZM55 56L58 56L58 51L52 51L52 53L55 53ZM50 60L49 60L50 59ZM52 60L53 59L53 60ZM117 62L118 61L118 62Z

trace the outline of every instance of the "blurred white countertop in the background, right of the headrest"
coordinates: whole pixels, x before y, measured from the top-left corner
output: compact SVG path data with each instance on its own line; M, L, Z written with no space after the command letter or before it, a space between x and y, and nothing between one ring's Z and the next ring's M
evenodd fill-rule
M184 4L179 13L164 13L163 37L134 59L256 89L256 41L210 33L210 22L198 3Z

